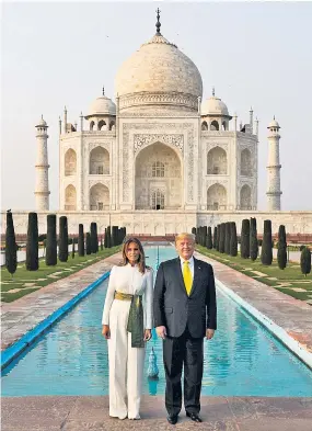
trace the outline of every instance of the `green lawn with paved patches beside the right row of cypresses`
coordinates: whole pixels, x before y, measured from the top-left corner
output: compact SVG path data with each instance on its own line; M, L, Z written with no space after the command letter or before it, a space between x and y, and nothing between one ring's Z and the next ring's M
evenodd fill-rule
M208 250L199 245L196 246L196 250L297 299L312 299L312 273L305 277L301 273L299 263L289 262L285 270L280 270L276 260L267 266L261 263L259 258L253 262L251 259L242 259L241 256L231 257L216 250ZM256 274L254 271L264 275ZM302 288L303 291L296 292L296 288Z

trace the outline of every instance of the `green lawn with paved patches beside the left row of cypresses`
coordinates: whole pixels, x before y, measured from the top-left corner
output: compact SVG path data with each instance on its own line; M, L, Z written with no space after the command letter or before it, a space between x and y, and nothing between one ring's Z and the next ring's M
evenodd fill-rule
M27 271L25 269L25 263L20 263L13 279L5 266L2 266L1 300L4 303L11 303L31 292L42 288L43 286L74 274L83 268L99 262L108 256L117 253L119 250L120 246L116 246L111 249L104 249L103 251L100 250L96 254L84 256L83 258L79 257L77 252L73 259L71 258L71 254L69 254L67 262L58 261L55 266L47 266L45 260L41 259L39 269L37 271Z

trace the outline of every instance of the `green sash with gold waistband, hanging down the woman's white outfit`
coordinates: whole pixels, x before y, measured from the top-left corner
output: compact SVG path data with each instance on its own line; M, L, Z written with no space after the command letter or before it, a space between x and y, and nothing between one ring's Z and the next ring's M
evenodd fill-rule
M131 332L131 347L145 347L145 328L143 328L143 306L142 295L131 295L128 293L115 292L115 299L131 300L127 331Z

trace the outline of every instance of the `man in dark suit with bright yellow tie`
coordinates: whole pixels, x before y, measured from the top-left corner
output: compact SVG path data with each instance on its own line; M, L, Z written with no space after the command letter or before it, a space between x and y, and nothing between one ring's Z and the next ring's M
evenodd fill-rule
M212 266L193 257L195 238L175 238L178 258L162 262L154 286L154 326L163 339L165 407L167 421L177 422L182 407L181 375L184 365L186 416L201 422L200 389L204 337L210 340L217 329L216 287Z

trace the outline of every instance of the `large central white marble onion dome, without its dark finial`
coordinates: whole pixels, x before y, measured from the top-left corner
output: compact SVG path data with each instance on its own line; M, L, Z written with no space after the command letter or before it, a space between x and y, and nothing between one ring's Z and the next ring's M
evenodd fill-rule
M139 104L178 104L197 110L197 98L203 95L203 81L195 64L176 45L161 34L131 55L115 78L115 92L120 98L142 97ZM150 95L149 101L145 95ZM129 105L138 105L134 102Z

